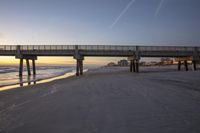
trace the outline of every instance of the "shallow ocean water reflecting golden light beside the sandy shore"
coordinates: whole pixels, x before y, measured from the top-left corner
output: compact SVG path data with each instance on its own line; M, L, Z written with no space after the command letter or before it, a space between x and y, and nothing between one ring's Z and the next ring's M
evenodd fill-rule
M32 71L31 71L32 72ZM10 85L41 81L71 73L73 75L74 67L71 66L37 66L36 75L28 76L24 67L23 77L19 77L18 66L0 66L0 88Z

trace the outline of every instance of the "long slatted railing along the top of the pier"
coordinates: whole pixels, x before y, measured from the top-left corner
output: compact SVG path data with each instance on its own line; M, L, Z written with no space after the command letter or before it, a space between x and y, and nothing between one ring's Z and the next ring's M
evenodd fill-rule
M119 45L20 45L21 50L122 50L135 51L194 51L195 47L182 46L119 46ZM196 47L200 51L200 47ZM0 50L17 50L17 45L0 45Z

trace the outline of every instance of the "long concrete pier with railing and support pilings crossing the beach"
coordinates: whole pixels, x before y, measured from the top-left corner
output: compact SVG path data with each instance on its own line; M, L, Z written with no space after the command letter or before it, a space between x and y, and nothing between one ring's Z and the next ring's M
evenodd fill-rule
M127 57L130 71L139 72L141 57L190 57L193 68L200 60L200 47L183 46L119 46L119 45L0 45L0 56L15 56L20 59L19 76L23 75L23 60L26 60L28 75L31 75L29 60L32 60L33 74L36 74L35 60L38 56L73 56L76 59L76 75L83 74L84 57ZM182 61L186 70L187 60Z

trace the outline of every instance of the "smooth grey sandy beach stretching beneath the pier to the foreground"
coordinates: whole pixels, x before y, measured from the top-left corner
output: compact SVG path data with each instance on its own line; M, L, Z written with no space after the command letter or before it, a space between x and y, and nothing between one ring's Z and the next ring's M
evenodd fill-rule
M0 92L2 133L197 133L200 71L99 68Z

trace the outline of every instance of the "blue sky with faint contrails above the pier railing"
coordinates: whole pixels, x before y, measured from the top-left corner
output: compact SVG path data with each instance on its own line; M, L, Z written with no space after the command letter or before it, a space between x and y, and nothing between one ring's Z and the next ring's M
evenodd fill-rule
M200 45L200 0L0 0L1 44Z

